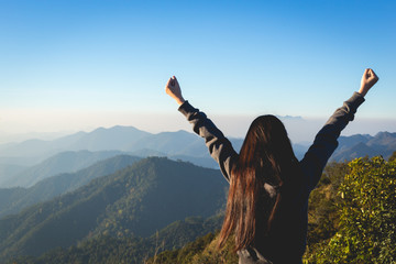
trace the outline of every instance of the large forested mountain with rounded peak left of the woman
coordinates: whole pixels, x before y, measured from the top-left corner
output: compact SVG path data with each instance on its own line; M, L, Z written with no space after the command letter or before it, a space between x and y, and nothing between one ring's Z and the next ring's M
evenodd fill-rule
M176 220L213 216L226 187L219 170L146 158L0 219L0 256L41 255L100 235L151 237Z

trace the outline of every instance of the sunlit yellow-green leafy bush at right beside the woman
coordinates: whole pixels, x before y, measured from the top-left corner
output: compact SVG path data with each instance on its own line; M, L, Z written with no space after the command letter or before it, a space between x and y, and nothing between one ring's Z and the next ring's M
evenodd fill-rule
M309 263L396 262L396 163L382 157L350 164L339 188L337 233L307 257Z

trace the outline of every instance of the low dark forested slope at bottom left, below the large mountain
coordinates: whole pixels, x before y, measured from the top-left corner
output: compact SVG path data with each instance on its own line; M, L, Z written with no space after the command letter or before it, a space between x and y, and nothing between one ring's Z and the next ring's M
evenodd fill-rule
M9 263L145 263L151 256L164 250L182 248L198 237L213 232L221 227L221 222L222 216L209 219L190 217L184 221L173 222L148 238L99 235L68 249L57 248L38 257L16 256Z

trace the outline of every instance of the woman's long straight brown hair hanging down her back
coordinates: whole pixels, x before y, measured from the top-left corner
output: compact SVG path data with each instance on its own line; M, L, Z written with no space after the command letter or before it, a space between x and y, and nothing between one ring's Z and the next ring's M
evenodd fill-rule
M252 122L231 172L220 248L232 233L235 234L235 251L239 251L254 245L257 235L271 230L282 200L282 186L287 183L296 161L279 119L261 116ZM270 198L264 190L265 183L279 187L275 198Z

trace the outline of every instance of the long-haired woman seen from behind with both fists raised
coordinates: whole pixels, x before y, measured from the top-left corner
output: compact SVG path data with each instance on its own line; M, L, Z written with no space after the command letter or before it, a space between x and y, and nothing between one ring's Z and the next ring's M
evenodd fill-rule
M183 98L175 76L168 80L166 92L179 105L194 131L205 139L230 183L219 246L234 234L240 263L301 263L309 194L337 148L341 131L377 80L372 69L365 69L359 92L337 109L300 162L285 127L274 116L252 122L238 154L206 114Z

